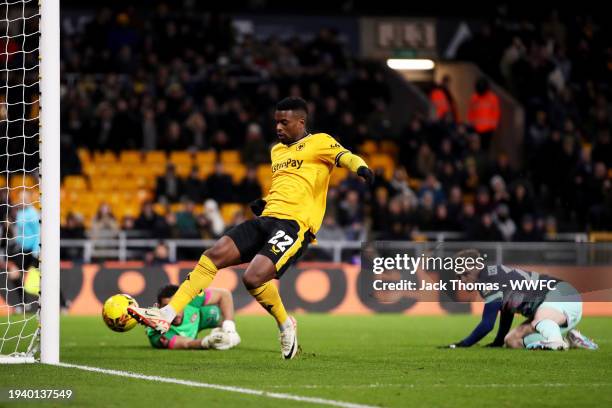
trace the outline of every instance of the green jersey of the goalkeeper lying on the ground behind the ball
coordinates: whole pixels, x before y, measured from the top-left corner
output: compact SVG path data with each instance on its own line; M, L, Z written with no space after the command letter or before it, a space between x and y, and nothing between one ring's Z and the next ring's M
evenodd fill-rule
M160 332L147 328L147 336L155 348L172 348L176 336L195 339L201 330L219 326L221 310L217 305L206 305L208 291L196 296L183 310L183 321L180 325L171 325L170 330Z

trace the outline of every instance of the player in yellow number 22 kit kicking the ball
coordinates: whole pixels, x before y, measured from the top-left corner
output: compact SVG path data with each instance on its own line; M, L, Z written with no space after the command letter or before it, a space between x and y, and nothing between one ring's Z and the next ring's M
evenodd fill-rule
M333 137L309 133L307 119L303 99L285 98L278 103L274 120L280 143L271 151L270 192L251 204L257 217L232 228L207 249L168 305L131 307L128 312L134 318L164 333L176 314L211 284L217 270L249 262L244 285L276 320L282 357L297 354L297 322L287 315L272 280L279 279L315 239L334 167L345 167L370 183L374 178L366 163Z

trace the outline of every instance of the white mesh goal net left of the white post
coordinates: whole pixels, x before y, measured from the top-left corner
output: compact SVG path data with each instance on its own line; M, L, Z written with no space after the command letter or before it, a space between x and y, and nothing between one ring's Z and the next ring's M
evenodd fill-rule
M47 140L43 140L45 133L41 129L40 50L44 10L41 7L45 1L48 2L42 0L39 6L33 0L0 0L0 362L3 363L38 360L40 332L44 327L44 319L43 322L40 319L41 269L44 271L41 177L46 174L41 166L41 158L44 159L41 147ZM59 95L55 99L59 105ZM58 165L59 154L56 160ZM52 173L51 180L59 184ZM58 278L56 274L55 279Z

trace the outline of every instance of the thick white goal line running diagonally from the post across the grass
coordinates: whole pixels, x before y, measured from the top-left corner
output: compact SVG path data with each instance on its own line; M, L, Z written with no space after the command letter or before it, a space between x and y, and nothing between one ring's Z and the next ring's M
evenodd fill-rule
M291 400L291 401L299 401L299 402L308 402L311 404L328 405L332 407L377 408L373 405L355 404L352 402L336 401L336 400L330 400L330 399L325 399L325 398L302 397L299 395L292 395L292 394L285 394L285 393L278 393L278 392L268 392L268 391L254 390L251 388L243 388L243 387L233 387L231 385L209 384L209 383L203 383L203 382L197 382L197 381L181 380L179 378L159 377L156 375L145 375L145 374L139 374L139 373L132 373L129 371L111 370L111 369L99 368L99 367L89 367L89 366L82 366L78 364L57 363L55 365L59 367L76 368L78 370L91 371L91 372L101 373L101 374L116 375L119 377L136 378L139 380L156 381L156 382L169 383L169 384L179 384L179 385L185 385L188 387L209 388L213 390L236 392L239 394L249 394L249 395L256 395L260 397L275 398L275 399L281 399L281 400Z

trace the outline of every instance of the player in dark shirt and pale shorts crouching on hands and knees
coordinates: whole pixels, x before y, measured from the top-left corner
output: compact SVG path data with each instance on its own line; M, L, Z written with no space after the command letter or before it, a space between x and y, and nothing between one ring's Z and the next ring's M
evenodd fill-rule
M466 250L457 256L476 258L480 255L478 251ZM480 323L468 337L449 347L470 347L479 342L493 330L499 313L499 329L489 347L505 344L510 348L531 350L567 350L570 345L591 350L598 348L575 329L582 318L582 299L569 283L505 265L466 269L460 276L465 283L490 283L497 285L499 290L480 291L485 300ZM521 280L550 282L550 285L536 290L512 290L510 282ZM515 313L525 316L527 321L509 332Z

